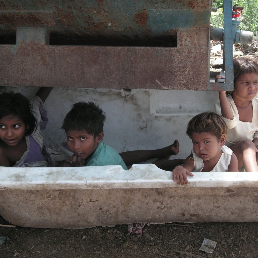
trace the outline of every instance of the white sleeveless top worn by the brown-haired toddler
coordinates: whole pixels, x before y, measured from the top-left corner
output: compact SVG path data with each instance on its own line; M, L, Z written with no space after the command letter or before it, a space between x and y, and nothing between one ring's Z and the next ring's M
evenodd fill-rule
M221 147L221 150L222 150L221 157L218 163L216 164L216 166L210 172L228 172L228 166L230 164L231 155L233 151L225 145ZM201 170L204 167L203 160L195 155L193 149L192 149L192 155L194 159L194 168L192 170L192 173L201 172Z

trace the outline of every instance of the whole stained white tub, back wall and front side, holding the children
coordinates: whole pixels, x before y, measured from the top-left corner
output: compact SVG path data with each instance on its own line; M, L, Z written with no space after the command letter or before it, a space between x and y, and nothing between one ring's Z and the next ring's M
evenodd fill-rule
M37 87L5 87L28 98ZM106 112L104 141L118 152L158 149L178 139L186 158L188 121L214 110L217 92L54 88L45 102L44 141L63 142L72 104L94 101ZM60 105L57 99L61 99ZM83 168L0 168L0 213L26 227L85 228L132 222L258 221L258 173L196 173L177 186L152 164Z

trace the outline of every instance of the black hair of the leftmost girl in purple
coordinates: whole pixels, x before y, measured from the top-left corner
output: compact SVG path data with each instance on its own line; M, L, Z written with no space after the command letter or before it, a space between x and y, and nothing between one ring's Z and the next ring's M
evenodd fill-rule
M25 135L28 136L37 128L29 100L20 93L0 94L0 119L7 115L18 116L25 123Z

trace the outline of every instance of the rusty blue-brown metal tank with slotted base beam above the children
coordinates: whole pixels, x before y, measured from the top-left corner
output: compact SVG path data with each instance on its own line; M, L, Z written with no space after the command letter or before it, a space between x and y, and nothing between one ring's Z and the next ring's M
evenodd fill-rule
M212 0L9 0L0 85L209 89Z

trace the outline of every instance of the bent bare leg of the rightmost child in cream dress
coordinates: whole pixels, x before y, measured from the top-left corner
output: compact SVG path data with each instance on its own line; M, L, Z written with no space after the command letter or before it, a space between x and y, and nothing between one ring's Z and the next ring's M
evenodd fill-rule
M256 155L256 146L252 141L244 140L232 145L230 148L237 156L239 170L244 166L247 172L258 171L258 156Z

